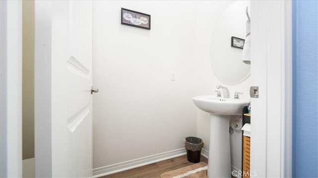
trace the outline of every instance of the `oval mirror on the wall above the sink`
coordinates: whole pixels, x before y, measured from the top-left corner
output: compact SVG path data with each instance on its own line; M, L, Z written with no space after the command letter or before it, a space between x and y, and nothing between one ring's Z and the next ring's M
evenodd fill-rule
M215 76L224 84L236 85L250 75L250 65L242 61L240 48L231 47L232 37L245 40L246 6L249 0L231 3L221 14L211 40L211 64Z

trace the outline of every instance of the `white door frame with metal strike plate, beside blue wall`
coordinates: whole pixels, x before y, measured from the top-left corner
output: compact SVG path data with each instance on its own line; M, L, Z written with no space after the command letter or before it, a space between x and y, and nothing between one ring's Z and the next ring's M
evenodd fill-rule
M290 178L292 1L251 1L251 14L251 175Z

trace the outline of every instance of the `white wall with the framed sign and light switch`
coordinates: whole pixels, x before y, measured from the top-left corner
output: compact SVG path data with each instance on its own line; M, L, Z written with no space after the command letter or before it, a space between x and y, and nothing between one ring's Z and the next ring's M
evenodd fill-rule
M179 149L196 135L195 5L94 1L93 168ZM121 25L121 7L151 14L151 30Z

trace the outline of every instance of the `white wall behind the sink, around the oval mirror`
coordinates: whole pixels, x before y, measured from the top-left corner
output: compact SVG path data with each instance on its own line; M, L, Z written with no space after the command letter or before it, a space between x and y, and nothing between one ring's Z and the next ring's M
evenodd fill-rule
M213 29L222 12L233 1L198 1L197 2L197 92L196 95L214 95L217 85L224 85L214 75L210 62L210 44ZM249 97L249 77L242 83L229 86L231 97L236 91L243 92L241 97ZM233 116L233 119L236 117ZM210 115L197 109L197 136L205 140L204 149L209 150ZM231 164L241 168L241 131L230 135Z

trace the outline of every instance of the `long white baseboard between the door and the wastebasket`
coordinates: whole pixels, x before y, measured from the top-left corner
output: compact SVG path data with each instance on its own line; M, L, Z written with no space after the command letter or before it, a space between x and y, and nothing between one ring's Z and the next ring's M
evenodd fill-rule
M117 163L109 166L104 166L100 168L93 169L93 178L99 178L102 176L107 176L115 173L119 173L122 171L127 171L130 169L138 168L141 166L157 163L159 161L175 158L178 156L185 155L186 151L184 148L180 148L177 150L172 150L164 153L159 153L156 155L146 156L143 158L138 158L135 160L130 160L122 163Z

